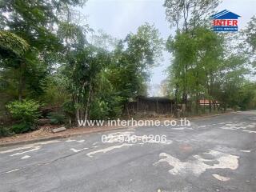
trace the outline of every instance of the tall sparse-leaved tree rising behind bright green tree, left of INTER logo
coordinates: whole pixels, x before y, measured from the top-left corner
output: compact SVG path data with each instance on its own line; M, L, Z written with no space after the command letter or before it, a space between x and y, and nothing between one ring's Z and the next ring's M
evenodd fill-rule
M177 35L179 33L185 32L186 34L193 35L194 28L198 26L202 26L202 24L206 23L209 15L214 12L214 8L218 6L219 0L166 0L164 3L164 7L166 7L166 19L170 22L170 26L176 26ZM171 36L168 38L166 45L170 44ZM189 48L188 48L189 49ZM191 49L191 52L193 50ZM186 56L184 56L186 57ZM178 62L179 60L176 60ZM185 104L185 108L188 100L188 85L187 82L187 71L190 63L182 62L178 64L179 68L182 67L182 102ZM178 91L181 89L178 83L175 84L176 90L176 102L178 101ZM186 109L184 109L186 110Z

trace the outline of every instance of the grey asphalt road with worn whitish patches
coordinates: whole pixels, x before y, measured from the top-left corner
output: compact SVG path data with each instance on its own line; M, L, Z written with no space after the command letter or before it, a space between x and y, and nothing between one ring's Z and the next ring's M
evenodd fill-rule
M255 192L256 111L1 148L0 191Z

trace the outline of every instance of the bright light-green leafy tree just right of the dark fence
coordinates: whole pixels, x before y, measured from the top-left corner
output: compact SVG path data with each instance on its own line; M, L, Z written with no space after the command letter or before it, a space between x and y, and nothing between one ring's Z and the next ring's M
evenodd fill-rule
M216 74L222 63L222 46L222 38L205 27L194 28L191 34L178 33L167 44L167 50L174 55L170 81L175 85L176 99L184 102L186 94L194 101L197 113L201 97L212 99Z

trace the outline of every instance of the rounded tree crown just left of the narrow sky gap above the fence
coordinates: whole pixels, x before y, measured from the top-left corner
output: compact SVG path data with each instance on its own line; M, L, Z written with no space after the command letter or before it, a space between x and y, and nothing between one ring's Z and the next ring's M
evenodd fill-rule
M118 90L124 98L146 94L150 68L158 65L162 57L163 41L154 26L148 23L138 27L136 34L128 34L114 50L114 70L119 74Z

